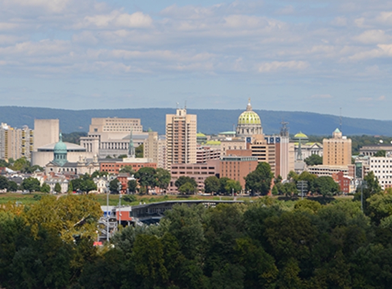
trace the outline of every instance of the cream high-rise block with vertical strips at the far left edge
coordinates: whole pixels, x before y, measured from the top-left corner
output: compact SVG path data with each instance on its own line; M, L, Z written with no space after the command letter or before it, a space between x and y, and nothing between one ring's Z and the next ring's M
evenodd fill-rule
M25 125L21 129L1 123L0 127L0 159L31 157L34 144L34 131Z

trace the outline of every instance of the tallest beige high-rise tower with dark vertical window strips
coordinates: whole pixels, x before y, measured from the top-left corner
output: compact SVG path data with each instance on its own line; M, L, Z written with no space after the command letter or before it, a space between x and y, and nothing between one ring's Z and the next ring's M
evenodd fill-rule
M185 108L166 114L166 166L196 163L196 114Z

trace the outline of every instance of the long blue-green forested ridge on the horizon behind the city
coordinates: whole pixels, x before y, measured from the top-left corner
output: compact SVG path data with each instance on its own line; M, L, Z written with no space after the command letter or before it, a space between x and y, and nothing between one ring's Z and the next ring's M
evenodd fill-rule
M205 134L217 134L233 129L237 118L244 110L192 110L197 114L198 131ZM291 134L298 131L309 135L330 135L339 127L339 116L316 114L313 112L280 112L271 110L254 110L261 117L265 134L280 131L280 122L289 122ZM121 110L58 110L52 108L25 108L16 106L0 107L0 121L12 127L28 125L34 127L35 118L59 118L60 129L64 133L88 131L93 117L128 117L141 118L144 129L151 128L165 133L165 115L175 113L174 108L138 108ZM345 135L383 135L392 136L392 121L377 121L365 118L343 117L342 130Z

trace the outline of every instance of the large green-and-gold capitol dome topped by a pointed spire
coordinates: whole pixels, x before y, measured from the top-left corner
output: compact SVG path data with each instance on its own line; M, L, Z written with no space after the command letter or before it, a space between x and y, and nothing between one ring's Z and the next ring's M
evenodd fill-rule
M239 115L237 123L237 136L246 137L254 134L263 134L263 127L261 127L261 119L259 114L252 110L250 99L246 106L246 111Z

